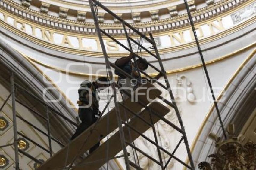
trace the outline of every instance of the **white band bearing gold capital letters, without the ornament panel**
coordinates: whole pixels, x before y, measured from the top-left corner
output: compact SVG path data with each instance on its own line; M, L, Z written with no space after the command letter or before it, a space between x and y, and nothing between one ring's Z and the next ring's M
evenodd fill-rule
M55 45L61 45L65 47L76 48L86 51L100 52L102 50L100 41L96 37L83 37L83 35L79 34L69 34L63 31L53 30L50 28L48 29L43 26L26 22L26 20L23 20L22 18L17 19L13 17L11 14L7 14L5 12L2 12L2 14L3 16L1 18L7 24L13 25L14 28L18 29L19 31L25 32L26 34L32 35L38 40L44 40ZM225 30L222 22L222 18L218 17L214 20L206 21L204 23L201 23L200 25L196 25L195 29L196 32L198 33L198 38L204 38L206 36L206 32L209 32L207 36L212 36L216 33L222 32L223 30ZM29 27L31 27L31 29ZM186 35L188 35L189 37L185 37ZM181 45L184 43L189 43L190 41L195 40L192 29L188 27L177 31L174 30L173 32L166 32L166 34L159 36L168 36L167 38L170 38L169 40L167 40L168 42L161 42L161 44L168 43L164 45L165 48ZM160 40L164 41L166 39L160 38ZM111 39L106 38L104 39L104 42L106 42L105 47L108 51L125 52L122 48L120 48L120 46L117 43L115 43Z

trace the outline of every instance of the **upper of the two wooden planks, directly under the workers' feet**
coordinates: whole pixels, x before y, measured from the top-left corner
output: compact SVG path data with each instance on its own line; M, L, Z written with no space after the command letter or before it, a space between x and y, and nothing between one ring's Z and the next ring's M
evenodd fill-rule
M147 83L145 85L142 85L142 88L138 90L139 93L145 93L147 92L148 88L154 88L149 91L149 98L155 99L158 96L161 95L161 91L155 88L151 83ZM149 101L146 98L146 95L139 95L139 100L143 101L145 104L148 104ZM143 108L142 105L140 105L138 102L131 102L131 99L128 98L125 101L122 102L126 107L130 108L133 112L137 113L141 111ZM124 108L120 105L120 113L122 120L126 120L131 118L133 115L126 110L127 117L125 117L124 114ZM116 110L113 108L109 113L109 133L117 129L117 117L116 117ZM74 157L77 155L77 153L80 150L80 154L85 153L87 150L89 150L92 146L94 146L98 140L99 136L102 135L102 138L105 138L107 133L107 115L101 118L101 120L98 122L98 125L96 126L95 130L92 131L92 134L89 137L89 140L86 142L83 148L82 145L85 141L85 139L89 136L91 129L93 128L94 124L90 126L86 131L84 131L82 134L80 134L77 138L75 138L69 146L65 146L61 150L59 150L55 155L53 155L51 158L49 158L45 163L43 163L38 169L39 170L49 170L49 169L57 169L57 168L63 168L65 166L65 160L66 160L66 154L68 152L68 158L67 158L67 165L69 165Z

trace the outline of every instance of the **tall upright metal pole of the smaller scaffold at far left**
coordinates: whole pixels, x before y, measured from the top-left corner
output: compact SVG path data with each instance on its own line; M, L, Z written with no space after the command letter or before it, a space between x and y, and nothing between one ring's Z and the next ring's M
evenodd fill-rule
M14 132L15 169L19 170L20 168L19 168L17 121L16 121L16 108L15 108L15 88L14 88L13 72L11 73L11 102L12 102L13 132Z

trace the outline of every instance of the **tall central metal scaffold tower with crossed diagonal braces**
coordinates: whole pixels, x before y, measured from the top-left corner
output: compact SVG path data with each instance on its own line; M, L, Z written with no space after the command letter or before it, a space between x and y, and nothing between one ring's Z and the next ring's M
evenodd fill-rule
M91 8L91 11L92 11L92 15L93 15L93 18L94 18L94 22L95 22L95 26L96 26L96 31L97 31L97 34L98 34L98 38L99 38L99 41L100 41L100 44L101 44L101 49L103 51L103 54L104 54L104 57L105 57L105 62L106 62L106 67L107 67L107 71L108 71L108 74L110 75L110 79L111 80L114 80L113 79L113 75L112 75L112 72L111 72L111 67L118 70L121 74L123 74L125 77L129 77L130 79L134 79L135 77L132 77L128 74L126 74L123 70L121 70L120 68L118 68L116 65L114 65L113 63L111 63L108 59L108 54L106 52L106 49L105 49L105 44L104 44L104 41L103 41L103 38L102 38L102 35L105 35L107 36L108 38L110 38L111 40L113 40L114 42L116 42L117 44L119 44L121 47L123 47L124 49L126 49L128 52L132 53L134 56L133 58L133 61L135 63L135 67L136 67L136 71L138 71L138 75L144 75L144 77L146 77L146 80L148 80L149 83L157 83L158 85L160 85L163 89L167 90L169 92L169 95L170 95L170 98L171 98L171 102L169 102L167 99L164 99L163 97L161 96L157 96L157 98L161 99L162 101L164 101L166 104L168 104L170 107L172 107L175 112L176 112L176 116L180 122L180 128L175 126L173 123L171 123L170 121L168 121L167 119L164 118L165 114L162 114L161 113L164 113L164 110L162 109L155 109L153 110L151 107L148 107L146 104L145 104L145 101L144 103L143 102L140 102L139 101L139 104L140 105L143 105L143 107L145 108L146 111L149 111L149 120L151 121L147 121L146 119L142 119L141 117L139 117L140 119L136 120L136 121L143 121L144 123L148 124L149 127L152 128L153 130L153 134L154 134L154 139L155 141L152 141L151 139L149 139L148 137L146 137L145 135L143 135L143 133L139 132L138 129L134 128L133 126L129 125L130 122L125 122L124 120L121 119L121 113L120 112L120 109L118 109L121 106L123 106L124 109L128 110L130 113L133 113L135 116L136 113L134 113L133 111L131 111L127 106L123 105L122 103L118 103L115 101L115 107L117 108L117 120L118 120L118 127L119 127L119 132L120 132L120 139L121 139L121 143L122 143L122 149L123 149L123 154L124 154L124 159L125 159L125 165L126 165L126 169L130 169L130 166L133 166L134 168L136 169L141 169L139 167L139 163L138 165L136 165L136 162L131 162L129 159L128 159L128 155L127 155L127 150L126 150L126 146L129 145L130 147L132 147L133 149L135 149L136 151L139 151L140 153L142 153L143 155L145 155L146 157L148 157L149 159L151 159L152 161L156 162L158 165L161 166L161 169L165 169L168 165L168 163L170 162L170 159L176 159L178 162L182 163L184 166L186 166L187 168L189 169L195 169L194 167L194 164L193 164L193 160L192 160L192 156L191 156L191 152L190 152L190 149L189 149L189 144L188 144L188 141L187 141L187 137L186 137L186 132L185 132L185 128L183 126L183 122L182 122L182 119L180 117L180 113L179 113L179 110L177 108L177 105L176 105L176 102L175 102L175 99L174 99L174 96L173 96L173 93L172 93L172 90L171 90L171 87L170 87L170 83L169 83L169 80L167 78L167 75L166 75L166 71L164 69L164 66L163 66L163 63L161 61L161 58L160 58L160 55L158 53L158 49L157 49L157 46L156 46L156 43L155 43L155 40L153 38L153 35L152 33L149 33L149 36L150 38L148 38L146 35L142 34L141 32L139 32L137 29L135 29L133 26L131 26L129 23L127 23L126 21L124 21L122 18L120 18L119 16L117 16L116 14L114 14L112 11L110 11L108 8L106 8L104 5L102 5L99 1L97 0L89 0L89 4L90 4L90 8ZM110 14L112 17L114 17L114 19L117 19L120 21L120 23L122 24L123 26L123 32L126 36L126 39L127 39L127 42L128 42L128 47L126 47L126 45L122 44L120 41L116 40L115 38L113 38L111 35L109 35L107 32L105 32L103 29L100 29L100 25L98 23L98 18L97 18L97 13L98 13L98 7L100 7L101 9L105 10L108 14ZM96 10L96 11L95 11ZM139 36L140 39L142 39L142 42L143 42L143 39L145 41L147 41L148 43L150 43L154 49L154 52L151 52L150 50L148 50L147 48L143 47L142 44L138 43L137 41L135 41L129 34L128 34L128 31L131 33L131 34L135 34L137 36ZM155 77L151 77L149 76L148 74L146 74L144 71L142 70L139 70L138 67L137 67L137 63L136 63L136 58L139 58L139 59L142 59L141 56L139 56L137 53L133 52L133 48L132 48L132 45L131 45L131 41L133 43L135 43L138 48L141 48L143 50L145 50L145 52L147 52L150 56L153 56L154 58L156 58L158 60L158 63L159 63L159 66L160 66L160 69L158 69L157 67L155 67L154 65L150 64L149 62L147 62L147 64L153 68L155 71L158 72L158 75L155 76ZM164 78L164 82L165 82L165 85L160 83L158 80L163 77ZM141 77L139 76L139 83L142 83L142 79ZM119 85L115 82L112 83L112 89L114 91L114 98L116 96L116 88L115 87L119 87ZM125 91L123 91L123 93L126 93ZM127 93L126 93L127 94ZM127 95L130 95L130 94L127 94ZM160 106L160 103L158 103L158 105ZM161 108L161 107L160 107ZM157 138L157 135L156 135L156 130L155 130L155 123L156 122L153 122L152 120L152 115L158 117L158 120L163 120L165 123L167 123L169 126L171 126L172 128L174 128L175 130L177 130L178 132L180 132L182 134L182 138L180 139L179 143L177 144L177 146L175 147L173 153L170 153L169 151L165 150L163 147L161 147L159 145L159 142L158 142L158 138ZM135 118L134 118L135 119ZM123 124L125 125L123 127ZM124 129L127 128L127 129L132 129L133 132L136 132L138 133L139 135L141 135L143 138L145 138L147 141L149 141L151 144L155 145L157 147L157 151L158 151L158 160L156 160L155 158L152 158L151 156L147 155L145 152L143 152L142 150L140 150L138 147L134 146L132 144L132 141L127 141L127 139L125 138L126 136L124 135ZM128 131L129 131L128 130ZM131 133L129 131L129 133ZM184 141L185 143L185 146L186 146L186 151L187 151L187 155L188 155L188 158L189 158L189 162L190 162L190 166L189 165L186 165L186 163L184 163L183 161L181 161L179 158L177 158L176 156L174 156L174 153L176 152L177 148L179 147L181 141ZM166 162L166 164L164 165L163 162L162 162L162 156L161 156L161 151L165 152L166 154L168 154L170 156L170 159ZM139 160L137 160L139 161ZM84 161L85 162L85 161Z

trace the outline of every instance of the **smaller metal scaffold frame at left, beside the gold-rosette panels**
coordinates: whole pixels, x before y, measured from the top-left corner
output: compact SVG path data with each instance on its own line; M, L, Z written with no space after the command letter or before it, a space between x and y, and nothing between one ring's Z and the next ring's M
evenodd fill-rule
M31 91L27 90L27 88L24 88L23 86L19 85L19 83L16 83L14 81L14 76L15 74L12 72L11 73L11 77L10 77L10 91L11 94L5 99L4 103L2 104L0 111L2 111L2 109L4 108L4 106L7 104L8 100L11 99L11 103L12 103L12 118L13 118L13 129L14 129L14 142L11 144L6 144L6 145L2 145L0 146L0 148L4 148L4 147L8 147L8 146L14 146L14 155L15 155L15 169L19 170L19 153L27 156L28 158L30 158L31 160L33 160L34 162L36 162L38 165L41 165L43 162L41 160L36 159L34 156L30 155L29 153L23 151L22 149L20 149L18 147L18 135L21 136L22 138L24 138L27 141L30 141L31 143L33 143L35 146L39 147L40 149L44 150L45 152L49 153L49 156L52 157L53 155L53 151L52 151L52 142L56 142L57 144L59 144L61 147L64 147L65 145L59 141L58 139L54 138L51 135L51 129L50 129L50 117L53 115L57 115L59 117L61 117L64 121L67 121L68 123L70 123L71 125L77 127L78 124L76 122L74 122L73 120L71 120L70 118L64 116L60 111L57 111L57 109L53 108L52 106L48 105L47 102L45 102L44 100L40 99L38 96L34 95ZM7 84L7 83L6 83ZM19 93L19 94L17 94ZM17 99L17 96L19 96L20 94L22 94L23 96L29 96L31 99L35 100L36 102L39 102L42 104L42 106L44 106L45 108L44 113L40 113L36 110L34 110L33 108L31 108L29 105L27 105L24 101L22 102L21 100ZM38 128L36 125L34 125L33 123L30 123L28 120L26 120L25 118L21 117L20 115L16 114L16 105L17 103L26 108L27 110L29 110L35 117L43 120L46 122L47 125L47 132L44 132L42 129ZM17 118L19 120L21 120L22 122L26 123L27 125L31 126L33 129L35 129L37 132L41 133L42 135L46 136L48 138L48 148L45 148L44 146L42 146L41 144L37 143L36 141L34 141L33 139L29 138L28 136L24 135L21 132L18 132L17 130Z

